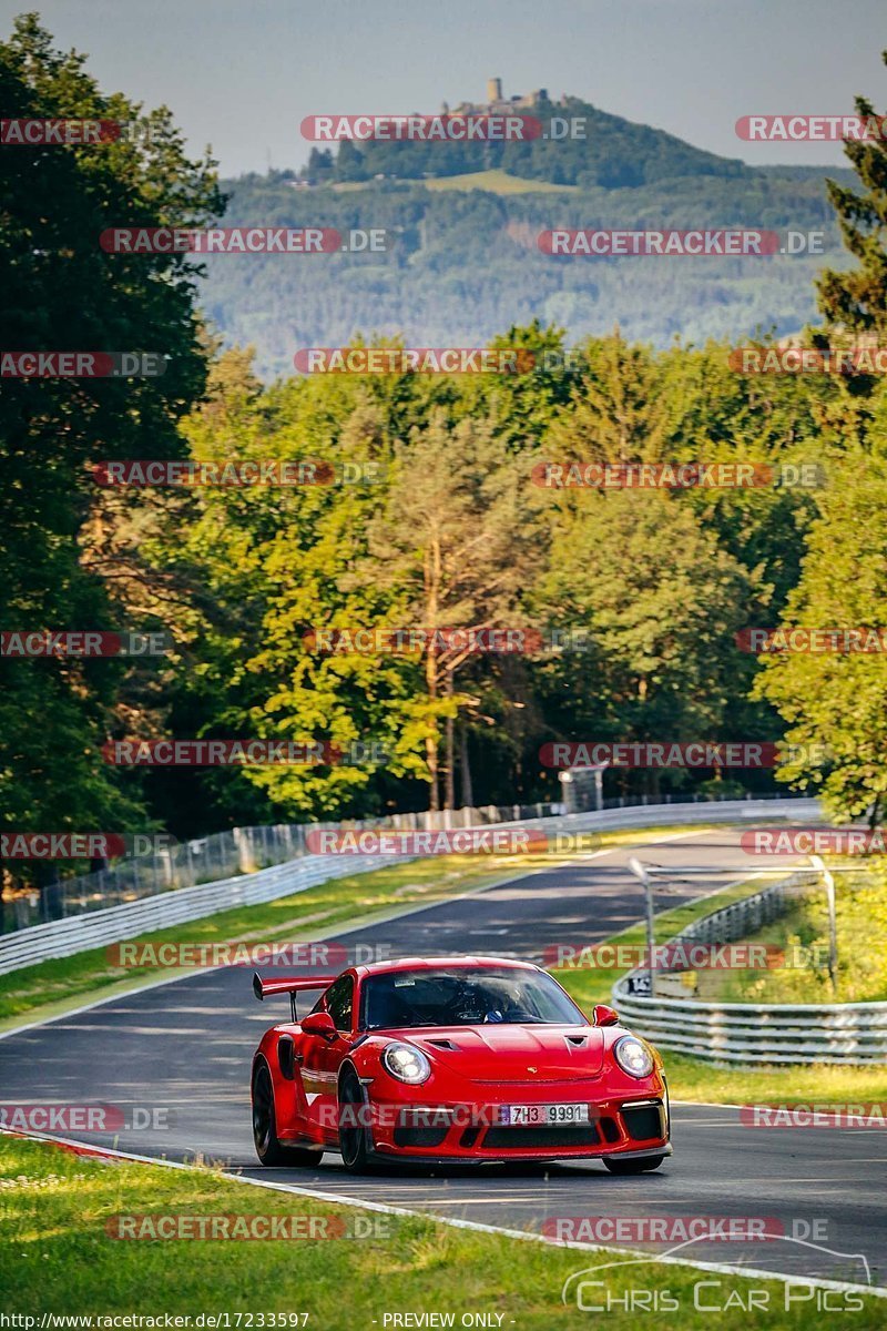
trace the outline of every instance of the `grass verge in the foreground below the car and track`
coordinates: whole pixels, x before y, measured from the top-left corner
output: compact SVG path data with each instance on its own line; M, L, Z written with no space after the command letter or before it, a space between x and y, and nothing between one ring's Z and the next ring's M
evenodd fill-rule
M592 1209L589 1187L577 1193L577 1214ZM225 1240L152 1239L124 1242L109 1236L116 1215L286 1215L335 1217L346 1227L376 1225L368 1238ZM302 1223L306 1223L302 1219ZM576 1304L561 1303L564 1280L596 1263L620 1260L622 1252L581 1252L521 1242L499 1234L455 1230L426 1217L383 1217L332 1206L318 1199L246 1187L209 1169L168 1170L158 1166L101 1165L57 1147L0 1138L0 1288L7 1314L40 1316L97 1314L174 1316L198 1314L307 1312L310 1331L354 1331L372 1327L391 1312L497 1312L511 1331L549 1331L592 1326ZM730 1244L721 1260L738 1259ZM711 1280L688 1267L644 1263L590 1276L605 1282L610 1296L634 1290L668 1290L680 1300L681 1327L711 1327L711 1316L694 1311L694 1284ZM852 1276L851 1276L852 1278ZM718 1316L723 1331L814 1327L810 1304L783 1311L781 1282L721 1275L719 1299L733 1307ZM750 1288L767 1291L769 1312L749 1314L738 1306ZM710 1302L713 1290L706 1287ZM795 1295L799 1288L795 1287ZM856 1331L883 1327L887 1306L860 1296L851 1314ZM669 1324L678 1324L669 1315ZM660 1319L656 1319L660 1320ZM162 1326L162 1320L160 1323ZM193 1323L191 1323L193 1324ZM237 1323L231 1319L231 1327ZM273 1323L265 1320L266 1327ZM606 1326L632 1331L648 1315L610 1311ZM246 1326L246 1322L242 1323Z

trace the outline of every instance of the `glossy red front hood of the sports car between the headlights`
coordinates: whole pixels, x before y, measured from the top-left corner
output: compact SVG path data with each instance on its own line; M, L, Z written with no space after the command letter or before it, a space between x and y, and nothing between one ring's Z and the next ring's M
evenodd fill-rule
M403 1038L473 1082L600 1077L604 1066L604 1033L594 1026L435 1026Z

